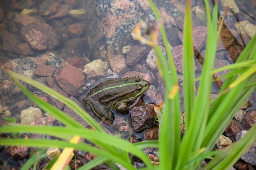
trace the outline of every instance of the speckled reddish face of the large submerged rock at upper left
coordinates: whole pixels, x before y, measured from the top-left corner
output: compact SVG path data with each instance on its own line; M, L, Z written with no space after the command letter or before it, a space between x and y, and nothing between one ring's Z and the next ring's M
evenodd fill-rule
M27 42L31 45L32 49L45 50L46 49L46 37L40 31L35 29L30 30L25 34Z

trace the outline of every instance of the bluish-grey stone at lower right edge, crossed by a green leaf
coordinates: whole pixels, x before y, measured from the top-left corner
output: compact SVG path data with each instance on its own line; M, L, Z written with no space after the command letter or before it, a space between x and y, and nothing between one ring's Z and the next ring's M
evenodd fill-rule
M236 141L239 141L245 134L247 133L247 130L243 130L236 136ZM254 144L245 152L245 154L241 157L245 162L248 162L252 165L256 165L256 141L254 141Z

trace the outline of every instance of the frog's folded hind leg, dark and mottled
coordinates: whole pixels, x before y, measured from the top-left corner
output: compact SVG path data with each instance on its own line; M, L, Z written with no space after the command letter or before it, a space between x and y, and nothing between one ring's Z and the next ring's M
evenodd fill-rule
M114 121L114 114L112 111L106 106L102 105L100 102L88 97L83 99L83 104L86 109L90 108L92 113L96 115L100 120L102 117L105 117L106 121L108 121L110 124L112 124Z

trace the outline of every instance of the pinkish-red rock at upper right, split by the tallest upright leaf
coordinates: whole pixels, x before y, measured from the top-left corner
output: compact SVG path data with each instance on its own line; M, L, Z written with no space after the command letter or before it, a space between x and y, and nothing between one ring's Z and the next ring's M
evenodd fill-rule
M182 32L178 33L180 40L183 42L184 35ZM198 51L201 51L206 42L207 28L205 26L198 26L193 29L193 45L195 56L198 55Z

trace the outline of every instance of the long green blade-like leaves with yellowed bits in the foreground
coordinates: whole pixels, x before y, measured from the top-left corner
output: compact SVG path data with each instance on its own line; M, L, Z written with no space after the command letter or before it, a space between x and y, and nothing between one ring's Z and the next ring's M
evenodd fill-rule
M152 0L148 0L155 12L157 20L160 20L157 9ZM92 152L97 156L96 159L90 161L81 169L91 169L101 163L106 163L112 169L119 169L115 163L120 164L124 168L134 170L129 155L132 154L146 165L144 170L198 170L202 161L205 158L212 159L206 167L207 170L227 170L229 169L246 150L254 143L256 139L256 125L254 125L240 141L226 147L224 150L212 151L216 141L225 130L236 111L243 105L245 100L251 95L256 87L255 71L256 71L256 36L252 38L247 47L241 53L236 61L236 64L225 66L216 71L213 70L220 28L217 27L217 4L213 8L212 15L207 0L204 1L207 9L207 44L206 56L204 60L202 75L200 77L200 85L198 94L195 96L194 84L194 60L193 60L193 41L192 41L192 17L190 0L186 1L186 14L184 19L184 54L183 54L183 82L184 82L184 106L186 110L186 132L183 138L180 138L180 100L178 95L178 79L171 55L171 49L168 45L164 27L161 25L162 37L164 40L166 52L168 55L168 64L164 59L164 55L157 44L156 31L151 31L152 41L144 41L143 37L139 37L146 44L153 46L157 55L157 64L159 72L164 79L166 85L166 97L164 109L159 108L159 119L161 129L159 132L158 141L144 141L136 144L131 144L123 139L108 135L99 124L90 117L83 109L70 99L58 94L47 86L38 84L32 79L13 73L5 69L12 77L13 81L19 86L25 95L27 95L40 108L56 117L63 122L66 127L33 127L27 125L7 124L2 126L0 132L31 132L47 134L59 137L63 141L56 140L40 140L40 139L0 139L0 145L22 145L35 147L51 147L67 149L65 155L71 153L73 149L85 150ZM212 17L211 17L212 16ZM138 24L136 29L139 29L143 24ZM160 27L161 26L161 27ZM225 75L225 83L220 89L218 97L210 101L211 84L213 73L231 69L228 75ZM169 72L171 71L171 78ZM83 127L78 122L74 121L65 113L54 108L50 104L43 102L27 91L19 82L22 80L36 88L44 91L48 95L60 100L85 121L87 121L94 130L89 130ZM211 105L211 108L209 107ZM209 109L210 108L210 109ZM79 143L80 138L84 137L99 148L94 148L85 143ZM160 165L153 166L148 157L141 149L146 147L159 148ZM40 155L45 156L45 151L41 150ZM33 158L33 159L32 159ZM40 157L41 158L41 157ZM66 161L58 159L52 169L57 167L65 167L70 160L70 155L65 157ZM36 163L37 159L31 157L25 164L23 169L28 169ZM65 162L65 166L63 166ZM48 167L50 168L50 167ZM80 169L80 168L79 168Z

